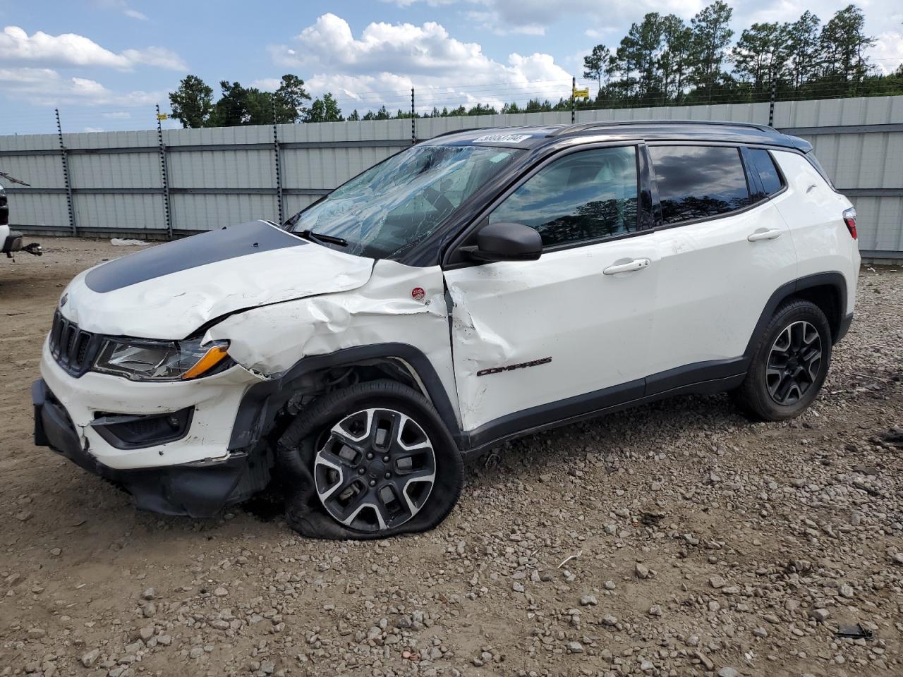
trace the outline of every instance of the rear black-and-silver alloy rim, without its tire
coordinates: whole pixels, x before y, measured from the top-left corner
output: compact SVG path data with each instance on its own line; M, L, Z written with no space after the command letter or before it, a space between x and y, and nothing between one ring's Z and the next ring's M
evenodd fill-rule
M815 384L822 365L822 337L818 329L799 320L777 335L766 366L768 394L783 406L796 404Z

